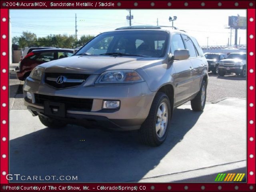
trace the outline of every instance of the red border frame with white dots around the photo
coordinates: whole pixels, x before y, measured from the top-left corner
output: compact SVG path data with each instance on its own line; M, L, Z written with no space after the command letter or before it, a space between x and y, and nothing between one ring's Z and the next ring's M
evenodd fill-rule
M10 191L10 190L3 190L2 186L59 186L59 184L54 184L54 183L47 183L47 184L8 184L8 180L6 180L5 176L2 174L3 171L8 174L8 124L9 124L9 119L8 119L8 109L9 109L9 98L8 98L8 79L9 79L9 65L8 65L8 9L3 6L2 0L0 0L0 183L1 183L1 188L0 191ZM35 2L35 1L13 1L13 2ZM66 1L37 1L37 2L46 2L49 4L50 2L54 3L59 3L59 2L66 2ZM69 1L72 2L72 1ZM75 2L84 2L84 1L75 1ZM86 2L92 2L92 1L86 1ZM202 0L202 1L193 1L193 0L172 0L172 1L165 1L165 0L149 0L149 1L141 1L141 0L125 0L125 1L102 1L102 2L113 2L114 6L110 8L120 8L120 9L127 9L127 8L132 8L132 9L174 9L174 8L204 8L204 9L212 9L212 8L217 8L217 9L223 9L223 8L229 8L229 9L236 9L236 8L244 8L247 9L247 42L248 42L248 49L247 49L247 54L248 54L248 75L247 75L247 183L232 183L232 184L227 184L227 183L215 183L215 184L171 184L171 183L154 183L154 184L132 184L128 183L125 184L125 186L146 186L146 190L143 191L169 191L168 186L171 186L172 189L170 191L202 191L201 187L205 187L205 191L233 191L235 190L235 186L238 186L238 191L255 191L255 0L238 0L238 1L233 1L233 0ZM120 2L121 5L117 6L117 3ZM134 3L137 2L138 5L134 6ZM151 5L151 3L154 2L154 6ZM168 2L171 2L171 6L168 6ZM188 6L185 6L184 3L188 2ZM201 3L204 2L205 5L202 6ZM221 2L221 6L218 6L218 3ZM235 2L238 2L238 6L235 6ZM250 3L253 3L252 6L250 6ZM49 7L49 6L48 6ZM32 8L34 7L10 7L10 8ZM50 7L50 8L63 8L63 7ZM72 8L90 8L90 7L72 7ZM105 7L104 7L105 8ZM6 18L6 21L4 22L2 19ZM250 21L250 18L253 18L253 21ZM2 38L2 35L6 35L6 38ZM253 35L254 38L250 39L249 36ZM6 55L3 56L2 53L6 52ZM253 55L250 55L250 52L253 52ZM6 72L3 72L3 69L6 70ZM252 69L250 71L250 69ZM6 89L3 90L2 87L6 86ZM250 90L250 87L253 86L253 90ZM2 104L5 103L6 106L2 106ZM253 104L251 107L250 104ZM5 124L3 124L3 120L6 121ZM250 121L253 120L253 123L250 124ZM6 138L6 141L3 140L3 138ZM253 141L250 141L250 138L253 138ZM6 158L2 158L2 155L6 154ZM250 154L253 154L254 157L250 158ZM250 175L250 172L253 172L253 175ZM84 186L84 184L61 184L62 186ZM86 186L89 186L90 188L97 188L97 186L118 186L118 185L123 185L124 184L110 184L110 183L104 183L104 184L95 184L95 183L86 183ZM151 189L151 186L154 186L154 190ZM187 186L188 189L185 190L184 187ZM222 189L220 190L218 187L221 186ZM253 188L252 188L253 187ZM21 190L19 190L21 191ZM33 191L33 190L31 190ZM41 190L42 191L42 190ZM47 191L47 190L44 190ZM52 190L53 191L53 190ZM58 191L58 190L57 190ZM64 190L63 190L64 191ZM72 190L68 190L72 191ZM93 191L93 190L91 190ZM107 190L102 190L102 191L107 191ZM113 191L118 191L118 190L113 190ZM138 191L142 191L139 190Z

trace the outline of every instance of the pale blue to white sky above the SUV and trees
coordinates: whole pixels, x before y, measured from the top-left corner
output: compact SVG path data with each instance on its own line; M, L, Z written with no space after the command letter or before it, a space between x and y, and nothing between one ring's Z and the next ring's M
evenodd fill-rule
M82 35L98 35L101 32L129 26L126 20L128 10L10 10L11 31L13 36L29 31L37 37L50 34L75 35L75 14L78 39ZM172 26L169 17L177 16L174 26L194 36L201 46L227 45L230 38L228 16L246 17L246 10L131 10L132 25ZM246 44L246 30L238 30L238 44ZM232 30L234 44L234 30Z

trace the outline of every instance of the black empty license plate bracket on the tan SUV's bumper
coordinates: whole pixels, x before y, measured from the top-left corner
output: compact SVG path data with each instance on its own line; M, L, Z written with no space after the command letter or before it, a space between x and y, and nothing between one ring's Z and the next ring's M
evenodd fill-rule
M64 118L66 116L66 106L64 103L45 101L44 114Z

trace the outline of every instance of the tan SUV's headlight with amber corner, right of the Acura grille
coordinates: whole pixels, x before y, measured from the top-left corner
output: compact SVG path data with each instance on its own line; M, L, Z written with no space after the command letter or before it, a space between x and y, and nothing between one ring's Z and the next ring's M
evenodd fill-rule
M103 72L95 83L135 83L142 81L144 81L143 78L134 70L113 70Z

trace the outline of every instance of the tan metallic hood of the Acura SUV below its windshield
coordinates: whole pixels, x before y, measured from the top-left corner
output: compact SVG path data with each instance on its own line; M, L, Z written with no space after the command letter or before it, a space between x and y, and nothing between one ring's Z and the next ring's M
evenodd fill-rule
M45 72L101 74L106 70L133 70L156 58L128 56L71 56L41 64Z

